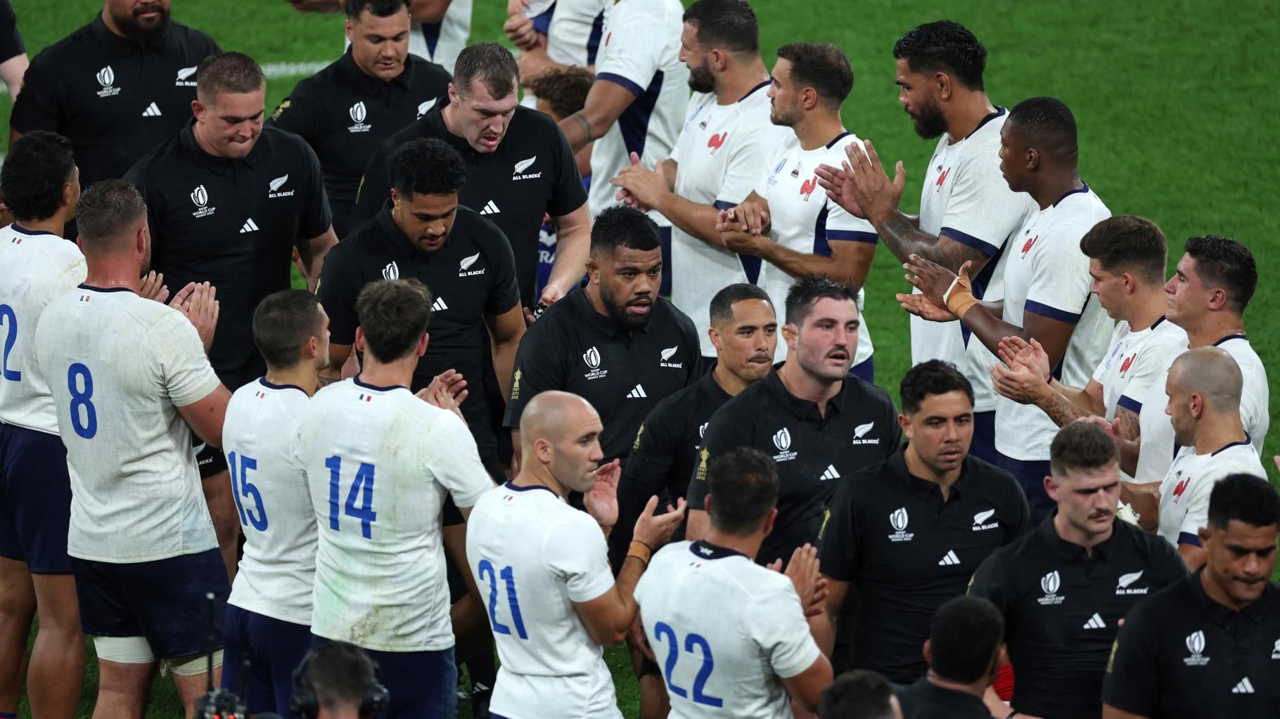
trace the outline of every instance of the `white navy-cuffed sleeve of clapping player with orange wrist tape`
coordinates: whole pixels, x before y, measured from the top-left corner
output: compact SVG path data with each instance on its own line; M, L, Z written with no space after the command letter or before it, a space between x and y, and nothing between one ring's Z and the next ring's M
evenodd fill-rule
M1025 312L1074 325L1080 321L1089 298L1089 258L1080 252L1080 238L1088 228L1061 224L1050 228L1037 243L1043 251L1032 257L1032 280ZM1023 325L1027 316L1023 315Z

